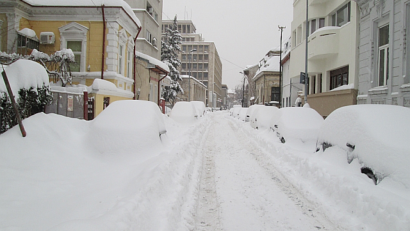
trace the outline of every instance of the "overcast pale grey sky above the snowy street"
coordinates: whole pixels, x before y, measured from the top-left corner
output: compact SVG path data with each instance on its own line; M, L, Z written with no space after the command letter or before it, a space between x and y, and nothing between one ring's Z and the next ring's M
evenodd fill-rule
M222 61L222 82L233 89L239 74L280 45L278 25L290 36L293 0L164 0L163 20L191 19L196 32L215 42Z

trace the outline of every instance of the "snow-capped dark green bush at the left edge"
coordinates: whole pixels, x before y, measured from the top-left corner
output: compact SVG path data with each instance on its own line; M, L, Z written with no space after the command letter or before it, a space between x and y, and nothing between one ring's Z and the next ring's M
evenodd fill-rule
M45 106L53 100L48 75L40 64L30 60L17 60L6 68L6 74L23 119L43 112ZM0 134L17 124L3 78L0 81L0 121Z

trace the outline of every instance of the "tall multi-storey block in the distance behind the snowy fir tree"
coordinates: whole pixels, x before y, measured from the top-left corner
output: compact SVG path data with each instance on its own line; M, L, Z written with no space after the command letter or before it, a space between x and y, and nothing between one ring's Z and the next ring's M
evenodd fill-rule
M173 25L173 20L162 21L162 34ZM207 42L191 20L179 20L178 31L182 36L182 52L179 59L181 75L191 75L207 87L206 105L220 107L223 104L222 62L215 43ZM166 38L163 36L164 41ZM184 89L187 90L187 89Z

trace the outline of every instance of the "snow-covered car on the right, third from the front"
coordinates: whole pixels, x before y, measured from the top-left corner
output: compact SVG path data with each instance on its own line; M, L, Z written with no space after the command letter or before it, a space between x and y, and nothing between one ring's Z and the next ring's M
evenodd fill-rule
M277 115L277 107L257 107L251 116L251 127L255 129L269 129L272 119Z

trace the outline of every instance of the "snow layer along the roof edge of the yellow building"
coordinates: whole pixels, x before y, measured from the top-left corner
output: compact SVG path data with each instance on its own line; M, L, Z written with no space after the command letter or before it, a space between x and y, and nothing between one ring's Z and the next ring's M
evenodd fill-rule
M70 1L58 1L58 0L23 0L24 2L32 6L96 6L102 5L108 7L122 7L124 11L134 20L134 22L141 27L141 22L135 16L130 5L123 0L70 0Z

